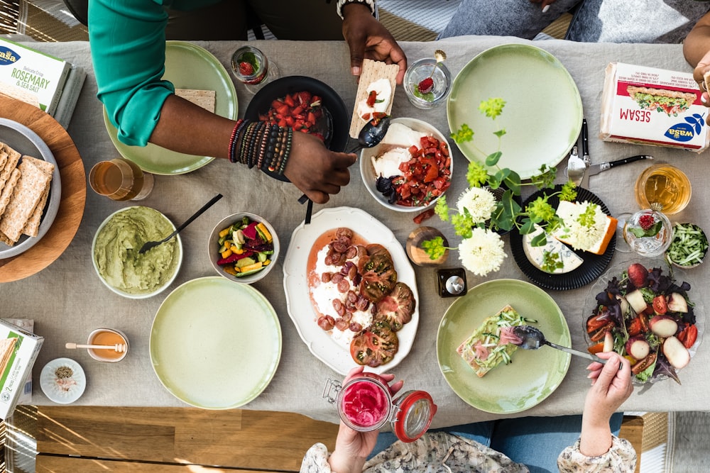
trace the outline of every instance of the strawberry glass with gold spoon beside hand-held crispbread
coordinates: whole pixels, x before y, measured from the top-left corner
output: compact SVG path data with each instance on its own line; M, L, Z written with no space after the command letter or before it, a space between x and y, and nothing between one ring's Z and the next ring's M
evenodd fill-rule
M446 100L451 90L451 72L444 65L446 55L437 50L436 57L420 59L407 68L404 89L410 103L417 108L433 108Z

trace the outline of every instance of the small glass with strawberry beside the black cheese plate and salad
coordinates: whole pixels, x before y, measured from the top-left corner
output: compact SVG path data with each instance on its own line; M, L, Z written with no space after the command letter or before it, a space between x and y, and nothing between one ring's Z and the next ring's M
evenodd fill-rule
M660 211L645 208L633 215L618 216L618 226L622 229L627 247L618 245L622 252L633 251L640 256L662 255L673 240L673 226L668 217Z

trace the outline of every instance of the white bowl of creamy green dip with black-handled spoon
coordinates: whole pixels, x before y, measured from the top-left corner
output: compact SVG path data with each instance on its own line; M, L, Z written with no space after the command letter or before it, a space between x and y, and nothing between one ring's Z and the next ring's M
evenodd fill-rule
M180 235L142 255L143 243L162 240L175 226L154 208L133 206L111 213L92 243L92 261L99 279L111 291L129 299L160 294L178 276L182 265Z

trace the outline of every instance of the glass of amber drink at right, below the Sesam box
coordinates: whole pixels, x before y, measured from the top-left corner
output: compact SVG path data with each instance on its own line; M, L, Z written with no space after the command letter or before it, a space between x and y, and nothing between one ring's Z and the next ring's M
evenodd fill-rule
M634 195L641 208L672 215L682 211L690 202L690 180L675 166L652 165L636 179Z

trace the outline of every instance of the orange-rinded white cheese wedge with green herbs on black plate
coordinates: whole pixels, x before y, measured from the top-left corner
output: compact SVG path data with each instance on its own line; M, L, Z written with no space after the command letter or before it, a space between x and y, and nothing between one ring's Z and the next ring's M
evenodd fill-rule
M574 250L603 255L616 233L616 218L603 213L593 202L562 201L557 206L557 215L564 225L552 236Z

